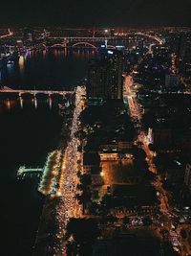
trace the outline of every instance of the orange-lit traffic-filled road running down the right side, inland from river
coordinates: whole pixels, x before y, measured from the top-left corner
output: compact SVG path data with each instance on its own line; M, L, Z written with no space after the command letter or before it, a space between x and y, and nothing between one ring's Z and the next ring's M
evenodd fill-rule
M128 102L130 116L132 117L133 121L136 122L138 128L141 128L141 112L140 108L138 107L136 94L132 92L132 85L133 78L131 76L127 76L124 81L124 98ZM161 222L162 228L169 231L169 240L174 246L175 250L179 251L181 256L191 254L190 245L185 243L185 241L183 241L180 237L180 226L177 229L173 228L174 207L170 205L168 193L163 189L162 179L158 174L157 167L154 163L154 153L153 151L149 150L147 136L141 129L139 130L138 140L135 142L135 144L137 144L137 142L141 142L142 150L144 150L146 153L149 171L156 175L153 185L155 186L159 195L159 208L162 215L161 219L163 220ZM158 229L160 230L161 227L158 226Z

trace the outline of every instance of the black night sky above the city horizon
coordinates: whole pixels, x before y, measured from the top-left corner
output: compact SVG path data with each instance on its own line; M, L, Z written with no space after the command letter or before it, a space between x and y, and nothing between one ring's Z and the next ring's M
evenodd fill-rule
M191 26L191 0L2 0L0 25Z

